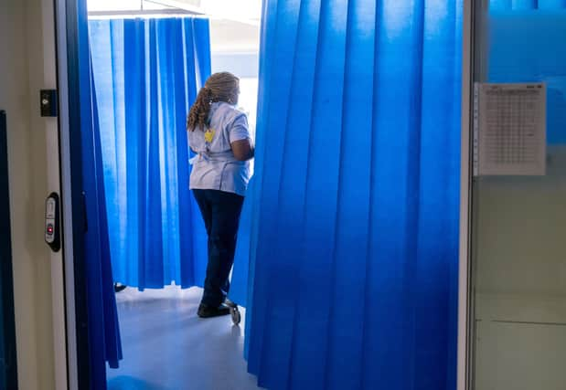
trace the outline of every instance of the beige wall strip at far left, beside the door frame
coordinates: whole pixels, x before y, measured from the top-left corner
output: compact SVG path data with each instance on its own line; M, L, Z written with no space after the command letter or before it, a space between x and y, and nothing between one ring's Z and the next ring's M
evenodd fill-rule
M7 113L17 368L19 387L26 390L55 388L51 257L42 223L48 194L46 136L57 124L38 113L39 89L54 87L52 58L44 67L42 48L49 37L43 30L49 3L0 2L0 108ZM46 27L52 33L53 26Z

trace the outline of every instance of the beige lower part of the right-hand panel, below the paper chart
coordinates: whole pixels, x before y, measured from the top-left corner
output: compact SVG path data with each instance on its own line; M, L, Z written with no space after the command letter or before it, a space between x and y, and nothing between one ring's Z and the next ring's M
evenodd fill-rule
M566 388L566 146L548 152L546 176L475 187L476 390Z

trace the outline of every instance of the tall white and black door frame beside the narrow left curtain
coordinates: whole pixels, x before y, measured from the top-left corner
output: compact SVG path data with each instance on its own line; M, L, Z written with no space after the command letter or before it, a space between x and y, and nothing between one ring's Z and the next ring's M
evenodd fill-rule
M82 183L79 13L83 0L55 0L59 90L61 228L65 272L67 372L70 390L90 388L86 285L86 211Z

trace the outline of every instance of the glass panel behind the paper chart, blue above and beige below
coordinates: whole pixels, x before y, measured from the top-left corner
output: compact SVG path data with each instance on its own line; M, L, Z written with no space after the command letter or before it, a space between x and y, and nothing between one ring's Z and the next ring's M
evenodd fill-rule
M562 390L566 1L477 3L475 81L547 84L547 172L475 177L472 388Z

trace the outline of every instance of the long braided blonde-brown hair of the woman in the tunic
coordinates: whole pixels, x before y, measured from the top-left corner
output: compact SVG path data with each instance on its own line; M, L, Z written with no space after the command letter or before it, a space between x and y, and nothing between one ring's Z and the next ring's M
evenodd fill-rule
M215 73L207 79L205 86L198 91L197 100L188 111L187 130L194 132L199 128L204 131L208 126L210 105L217 101L230 104L238 102L240 79L229 72Z

